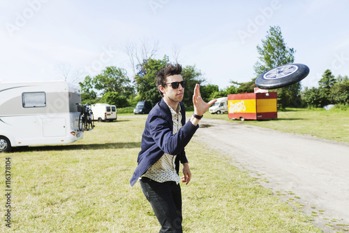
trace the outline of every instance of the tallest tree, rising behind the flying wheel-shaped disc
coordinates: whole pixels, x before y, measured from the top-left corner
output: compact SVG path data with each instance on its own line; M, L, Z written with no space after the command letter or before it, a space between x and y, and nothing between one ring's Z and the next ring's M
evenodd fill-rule
M257 45L257 51L259 54L259 61L255 62L253 66L256 77L269 69L284 64L290 64L295 61L295 57L293 56L295 50L287 47L279 26L270 27L269 31L267 31L265 40L262 40L262 46ZM278 92L278 107L284 109L286 106L289 106L291 102L299 102L300 90L300 83L295 83L276 90L276 92Z

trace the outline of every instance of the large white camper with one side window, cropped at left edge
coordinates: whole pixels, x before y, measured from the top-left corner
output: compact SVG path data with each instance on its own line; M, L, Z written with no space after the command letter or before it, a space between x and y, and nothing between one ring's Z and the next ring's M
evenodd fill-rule
M64 81L0 83L0 152L82 139L80 87Z

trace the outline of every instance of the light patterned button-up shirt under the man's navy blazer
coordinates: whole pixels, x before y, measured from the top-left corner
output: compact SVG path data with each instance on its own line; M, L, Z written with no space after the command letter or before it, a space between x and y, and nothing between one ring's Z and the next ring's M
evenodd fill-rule
M181 125L181 106L178 104L177 112L174 111L170 106L172 121L173 121L173 134L176 134L178 130L182 127ZM177 155L169 155L164 153L163 156L155 164L149 167L148 171L143 175L150 178L153 181L163 183L166 181L175 181L177 184L180 178L176 171L176 165L174 161ZM142 176L142 177L143 177Z

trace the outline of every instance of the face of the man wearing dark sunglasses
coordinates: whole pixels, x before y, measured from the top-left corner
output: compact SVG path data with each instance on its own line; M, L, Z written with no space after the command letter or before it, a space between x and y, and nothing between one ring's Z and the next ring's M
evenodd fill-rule
M172 82L181 82L183 78L180 74L175 74L173 76L168 76L166 78L166 83ZM178 88L173 89L171 84L166 84L165 87L162 88L163 97L172 103L179 103L183 100L184 97L184 87L179 84Z

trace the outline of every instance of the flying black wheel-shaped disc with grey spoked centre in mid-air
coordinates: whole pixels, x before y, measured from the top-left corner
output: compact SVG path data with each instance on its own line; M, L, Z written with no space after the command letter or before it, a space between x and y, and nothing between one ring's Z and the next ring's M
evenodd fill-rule
M304 64L285 64L262 73L255 79L260 89L276 89L287 87L308 76L309 67Z

